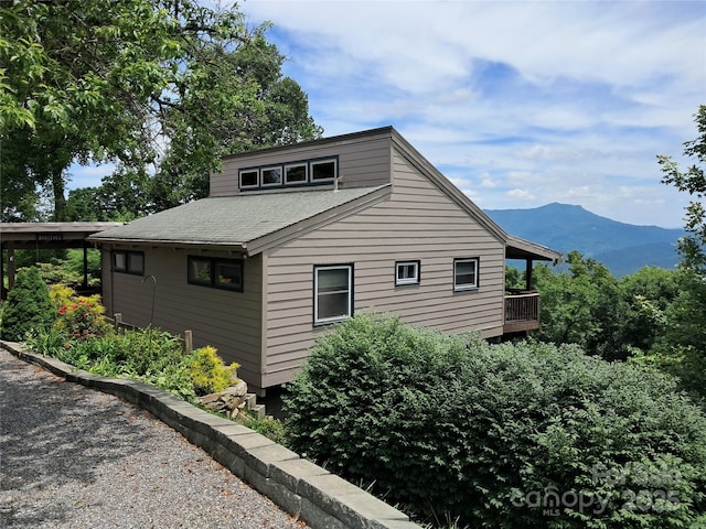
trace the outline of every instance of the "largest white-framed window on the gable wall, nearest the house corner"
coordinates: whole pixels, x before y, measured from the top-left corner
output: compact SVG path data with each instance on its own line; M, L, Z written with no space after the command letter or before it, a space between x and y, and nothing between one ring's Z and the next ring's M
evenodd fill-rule
M314 324L353 314L353 264L314 267Z

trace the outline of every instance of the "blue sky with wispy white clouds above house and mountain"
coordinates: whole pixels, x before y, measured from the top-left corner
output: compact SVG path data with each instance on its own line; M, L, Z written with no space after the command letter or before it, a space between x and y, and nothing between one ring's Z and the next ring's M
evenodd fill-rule
M631 224L683 225L688 196L660 183L656 154L681 159L697 134L706 1L246 0L238 9L249 24L274 24L268 39L325 137L392 125L483 208L561 202ZM95 185L78 182L83 171L75 184Z

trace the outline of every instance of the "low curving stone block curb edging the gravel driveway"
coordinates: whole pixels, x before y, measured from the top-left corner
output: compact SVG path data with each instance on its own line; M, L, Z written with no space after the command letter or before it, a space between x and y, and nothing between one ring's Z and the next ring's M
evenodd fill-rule
M404 512L285 446L167 391L137 380L99 377L31 353L22 344L0 342L0 346L71 382L149 411L312 529L421 529Z

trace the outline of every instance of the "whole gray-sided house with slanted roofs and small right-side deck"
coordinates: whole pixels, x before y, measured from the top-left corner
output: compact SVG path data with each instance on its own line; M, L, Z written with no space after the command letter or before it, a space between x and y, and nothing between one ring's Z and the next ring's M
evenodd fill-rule
M392 127L227 156L208 198L89 240L109 314L191 330L259 392L365 309L488 338L536 328L536 294L513 316L528 326L506 322L505 259L560 258L505 234Z

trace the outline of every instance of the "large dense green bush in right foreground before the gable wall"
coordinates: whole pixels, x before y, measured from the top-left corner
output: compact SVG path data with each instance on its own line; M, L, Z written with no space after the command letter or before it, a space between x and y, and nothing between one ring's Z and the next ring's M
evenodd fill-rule
M671 528L706 511L706 418L674 389L576 346L373 314L317 342L284 409L292 447L422 518Z

